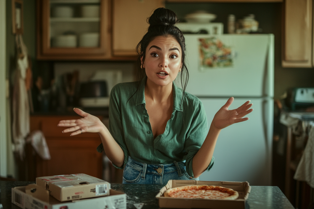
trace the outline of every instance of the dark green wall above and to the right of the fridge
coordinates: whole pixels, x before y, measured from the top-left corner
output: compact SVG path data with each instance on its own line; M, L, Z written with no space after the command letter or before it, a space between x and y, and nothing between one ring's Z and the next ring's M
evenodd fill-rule
M278 99L287 88L314 87L313 68L281 67L281 3L166 3L166 8L175 11L182 21L186 14L196 10L214 13L217 15L214 22L224 23L225 33L229 14L234 14L236 19L255 14L255 19L259 22L259 28L263 29L263 33L272 33L275 36L274 98Z

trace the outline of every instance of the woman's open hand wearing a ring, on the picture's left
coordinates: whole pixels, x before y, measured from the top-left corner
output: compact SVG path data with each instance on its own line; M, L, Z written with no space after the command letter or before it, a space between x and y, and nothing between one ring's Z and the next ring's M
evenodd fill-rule
M106 126L96 116L90 115L78 108L74 108L73 110L78 115L81 115L83 118L80 118L78 120L60 121L57 126L71 127L64 129L62 131L63 133L72 132L70 136L74 136L85 132L99 133L103 129L106 129Z

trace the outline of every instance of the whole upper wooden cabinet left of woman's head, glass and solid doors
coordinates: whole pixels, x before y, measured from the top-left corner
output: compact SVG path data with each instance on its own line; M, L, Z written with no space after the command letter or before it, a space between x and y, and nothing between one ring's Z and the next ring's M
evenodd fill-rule
M37 0L39 60L136 60L162 0Z

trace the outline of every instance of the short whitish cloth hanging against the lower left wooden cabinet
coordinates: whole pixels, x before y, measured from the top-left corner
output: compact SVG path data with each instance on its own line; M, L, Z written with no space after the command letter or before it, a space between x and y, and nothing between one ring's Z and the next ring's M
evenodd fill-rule
M46 142L44 133L40 130L32 131L30 136L26 140L27 143L31 143L36 153L44 160L50 160L49 148Z

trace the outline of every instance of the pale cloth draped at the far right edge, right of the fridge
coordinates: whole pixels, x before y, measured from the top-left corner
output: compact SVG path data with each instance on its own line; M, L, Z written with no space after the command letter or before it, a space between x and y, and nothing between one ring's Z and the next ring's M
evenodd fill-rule
M306 181L314 188L314 123L311 122L311 130L300 163L295 171L294 179Z

